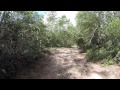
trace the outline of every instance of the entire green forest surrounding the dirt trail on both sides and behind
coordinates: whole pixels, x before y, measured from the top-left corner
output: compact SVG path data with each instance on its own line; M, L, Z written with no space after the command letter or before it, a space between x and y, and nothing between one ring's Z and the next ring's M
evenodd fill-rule
M120 11L78 11L76 25L56 11L46 14L44 22L35 11L0 11L0 79L13 79L34 62L43 62L52 48L76 46L86 62L119 67Z

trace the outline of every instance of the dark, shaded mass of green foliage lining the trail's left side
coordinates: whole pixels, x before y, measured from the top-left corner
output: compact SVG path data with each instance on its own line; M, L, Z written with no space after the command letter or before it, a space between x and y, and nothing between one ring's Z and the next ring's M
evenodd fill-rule
M42 56L45 25L32 11L3 11L0 19L0 72L12 77Z

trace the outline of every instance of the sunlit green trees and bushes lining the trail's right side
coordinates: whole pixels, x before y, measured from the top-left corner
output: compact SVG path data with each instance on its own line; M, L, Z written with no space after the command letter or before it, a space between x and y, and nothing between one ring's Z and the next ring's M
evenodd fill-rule
M76 16L79 32L77 44L87 51L88 60L107 64L119 63L120 16L119 12L87 11ZM104 19L103 19L104 18Z

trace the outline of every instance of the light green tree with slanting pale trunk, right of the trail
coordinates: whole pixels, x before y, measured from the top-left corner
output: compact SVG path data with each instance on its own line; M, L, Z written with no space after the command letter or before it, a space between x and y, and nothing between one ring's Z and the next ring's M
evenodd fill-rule
M81 32L81 37L84 37L84 41L88 44L98 44L99 31L101 29L100 13L78 12L76 19L77 28Z

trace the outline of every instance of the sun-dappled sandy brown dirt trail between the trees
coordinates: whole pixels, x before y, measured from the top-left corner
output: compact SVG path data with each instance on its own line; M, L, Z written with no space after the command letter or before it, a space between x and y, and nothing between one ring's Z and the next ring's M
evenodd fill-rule
M76 47L53 48L46 59L18 73L16 79L120 79L120 67L86 62Z

